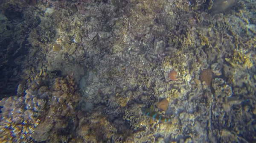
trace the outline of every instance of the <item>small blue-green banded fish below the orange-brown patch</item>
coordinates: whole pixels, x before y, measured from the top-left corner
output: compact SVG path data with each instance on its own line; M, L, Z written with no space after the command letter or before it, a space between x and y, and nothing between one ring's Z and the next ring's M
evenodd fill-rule
M171 121L170 118L166 118L164 115L159 114L158 112L154 111L154 107L151 106L150 108L142 109L144 115L148 118L153 119L154 121L162 121L162 122L169 122Z

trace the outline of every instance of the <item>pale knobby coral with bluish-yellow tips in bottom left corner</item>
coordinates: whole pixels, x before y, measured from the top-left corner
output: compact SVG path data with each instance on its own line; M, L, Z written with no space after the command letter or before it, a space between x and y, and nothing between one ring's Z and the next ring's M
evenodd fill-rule
M30 139L34 128L38 126L39 115L44 109L45 100L31 95L29 90L24 97L3 98L0 121L0 141L24 142Z

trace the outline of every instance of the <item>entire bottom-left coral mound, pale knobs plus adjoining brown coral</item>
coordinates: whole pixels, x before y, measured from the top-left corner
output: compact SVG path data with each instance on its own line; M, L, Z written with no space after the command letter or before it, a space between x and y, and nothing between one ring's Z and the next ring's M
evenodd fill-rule
M52 84L32 81L25 96L12 96L0 101L0 143L30 141L58 142L69 137L58 137L59 132L70 134L75 123L76 103L81 97L76 92L73 78L56 78ZM42 128L43 127L43 128Z

